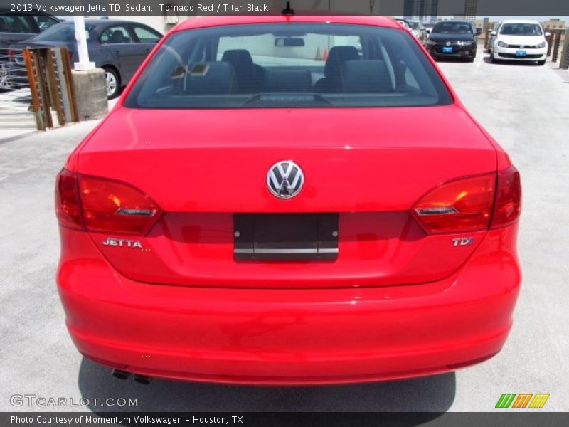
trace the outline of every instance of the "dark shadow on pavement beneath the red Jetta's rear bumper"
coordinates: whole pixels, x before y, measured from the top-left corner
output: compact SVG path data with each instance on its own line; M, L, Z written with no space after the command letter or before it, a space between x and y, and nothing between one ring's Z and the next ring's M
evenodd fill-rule
M137 406L95 406L105 411L371 411L432 412L410 425L437 418L454 401L454 372L404 381L388 381L349 386L226 386L154 379L150 385L137 384L132 378L122 381L111 369L83 358L79 371L83 398L138 399ZM419 415L419 414L418 414ZM426 418L426 419L425 419ZM419 422L420 421L420 422Z

